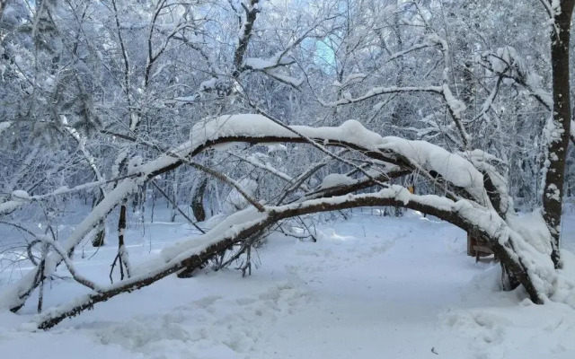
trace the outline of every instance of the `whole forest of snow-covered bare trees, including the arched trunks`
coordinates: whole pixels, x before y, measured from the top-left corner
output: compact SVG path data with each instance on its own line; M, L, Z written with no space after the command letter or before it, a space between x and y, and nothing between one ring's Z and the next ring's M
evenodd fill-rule
M208 264L243 258L247 274L270 231L363 206L455 224L500 259L506 289L544 303L575 186L575 1L486 3L1 1L0 223L27 233L34 269L0 307L19 311L57 267L90 294L38 328ZM202 234L134 268L125 230L155 198ZM92 211L58 238L75 200ZM118 241L119 281L74 267L85 241Z

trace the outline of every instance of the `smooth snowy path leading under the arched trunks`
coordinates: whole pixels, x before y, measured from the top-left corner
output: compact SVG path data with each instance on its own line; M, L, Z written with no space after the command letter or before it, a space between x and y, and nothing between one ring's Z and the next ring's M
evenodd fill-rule
M279 320L266 345L282 348L279 357L403 358L442 351L450 330L438 328L438 313L457 305L478 273L460 256L464 233L419 218L406 219L404 227L377 217L366 222L367 238L339 244L341 261L320 258L314 274L296 271L313 278L307 285L315 305ZM384 222L382 228L377 222ZM330 264L336 265L331 272L321 270Z

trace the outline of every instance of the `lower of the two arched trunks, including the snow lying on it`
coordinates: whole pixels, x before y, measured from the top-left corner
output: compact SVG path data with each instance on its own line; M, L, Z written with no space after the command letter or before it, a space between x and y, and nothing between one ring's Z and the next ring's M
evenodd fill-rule
M364 195L346 195L307 200L285 206L270 206L263 213L253 207L246 208L230 215L212 231L163 250L160 258L155 258L136 269L136 276L42 313L36 318L37 326L40 329L52 328L61 320L93 308L97 302L104 302L120 293L151 285L183 268L199 267L219 251L255 233L265 231L271 224L282 219L355 206L405 206L436 215L483 238L491 238L500 258L508 259L509 263L525 269L526 276L530 280L523 278L522 283L533 283L533 286L526 285L526 290L534 302L542 302L544 297L541 295L552 293L551 283L555 272L550 258L526 243L493 211L478 209L467 200L455 202L435 195L413 195L406 188L393 186Z

